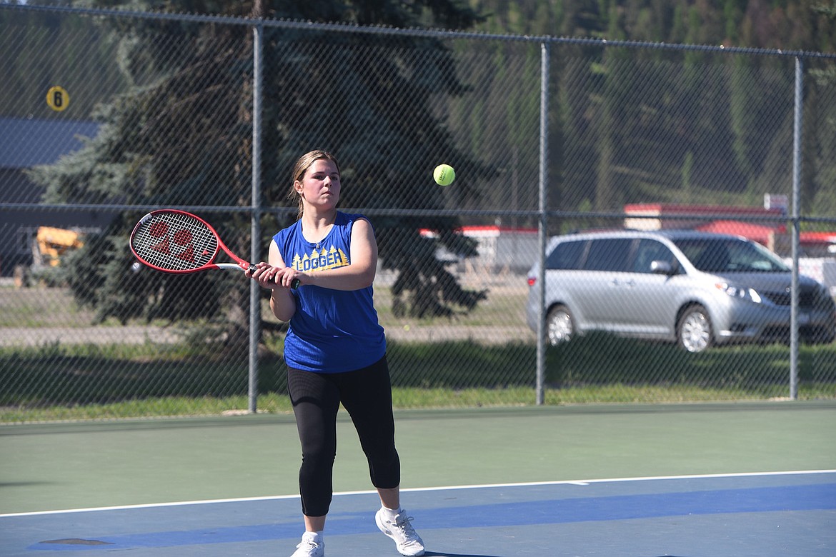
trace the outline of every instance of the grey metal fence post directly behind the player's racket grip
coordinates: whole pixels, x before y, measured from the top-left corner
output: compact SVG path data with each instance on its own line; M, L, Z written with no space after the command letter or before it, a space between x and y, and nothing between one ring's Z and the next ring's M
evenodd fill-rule
M259 18L252 28L252 213L250 261L259 261L261 242L261 124L262 124L262 37L264 26ZM250 281L250 347L247 394L248 410L257 412L258 401L258 338L261 337L261 287Z

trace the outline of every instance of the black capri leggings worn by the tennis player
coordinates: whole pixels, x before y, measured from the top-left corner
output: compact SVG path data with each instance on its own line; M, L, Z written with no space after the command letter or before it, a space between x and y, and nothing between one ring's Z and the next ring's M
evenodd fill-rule
M369 461L375 488L400 485L400 458L395 450L392 388L384 356L354 372L314 373L288 367L288 392L302 442L299 493L307 516L328 514L334 494L337 411L343 403Z

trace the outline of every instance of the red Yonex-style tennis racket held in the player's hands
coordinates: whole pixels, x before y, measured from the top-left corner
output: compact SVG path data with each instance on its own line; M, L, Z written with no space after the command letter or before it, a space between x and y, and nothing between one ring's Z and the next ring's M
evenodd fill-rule
M216 263L219 251L235 263ZM185 210L152 210L130 233L130 251L145 266L166 273L193 273L207 269L247 271L252 263L232 253L206 220ZM293 288L299 280L293 281Z

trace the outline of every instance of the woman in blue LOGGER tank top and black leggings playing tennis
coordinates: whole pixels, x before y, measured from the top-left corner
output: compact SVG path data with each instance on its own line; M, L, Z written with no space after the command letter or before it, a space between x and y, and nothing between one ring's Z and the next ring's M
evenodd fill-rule
M272 290L273 315L289 322L284 360L302 443L299 492L305 524L292 557L325 554L340 403L351 416L380 494L378 528L395 540L400 554L423 555L424 543L400 506L386 340L372 303L375 231L363 215L337 210L339 193L334 156L321 150L303 154L293 168L289 194L298 202L298 220L273 236L269 262L247 271Z

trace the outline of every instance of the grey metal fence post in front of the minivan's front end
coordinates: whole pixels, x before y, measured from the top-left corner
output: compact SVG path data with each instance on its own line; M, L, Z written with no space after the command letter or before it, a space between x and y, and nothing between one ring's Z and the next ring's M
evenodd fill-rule
M803 117L803 61L795 58L795 109L793 114L793 276L789 317L789 397L798 399L798 251L801 235L801 137Z

